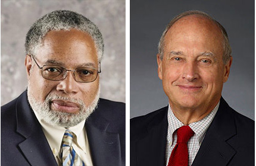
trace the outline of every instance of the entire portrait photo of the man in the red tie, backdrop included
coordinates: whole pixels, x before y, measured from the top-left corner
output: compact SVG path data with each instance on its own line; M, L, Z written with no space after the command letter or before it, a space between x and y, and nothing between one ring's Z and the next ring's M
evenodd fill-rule
M130 2L130 165L254 165L254 1Z

